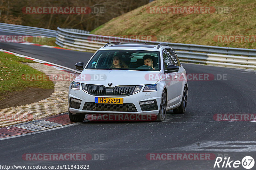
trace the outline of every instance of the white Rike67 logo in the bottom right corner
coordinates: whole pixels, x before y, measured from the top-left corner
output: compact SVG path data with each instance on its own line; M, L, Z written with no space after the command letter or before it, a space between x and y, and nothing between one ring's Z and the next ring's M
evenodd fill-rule
M214 168L237 168L239 166L243 166L245 169L251 169L254 166L254 159L251 156L245 156L242 161L240 160L231 160L230 157L225 157L222 159L221 157L217 157L214 163Z

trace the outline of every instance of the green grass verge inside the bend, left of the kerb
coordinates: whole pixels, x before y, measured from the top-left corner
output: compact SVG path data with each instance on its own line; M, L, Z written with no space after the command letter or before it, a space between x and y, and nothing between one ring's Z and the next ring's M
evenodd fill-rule
M53 89L52 81L29 81L25 80L26 74L44 73L22 64L22 62L34 62L25 58L17 57L12 54L0 52L0 101L6 93L11 91L22 91L26 87Z

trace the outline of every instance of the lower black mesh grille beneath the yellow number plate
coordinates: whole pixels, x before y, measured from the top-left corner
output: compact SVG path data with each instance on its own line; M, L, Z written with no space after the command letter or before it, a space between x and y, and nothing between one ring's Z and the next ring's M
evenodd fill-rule
M83 110L137 112L137 109L133 103L107 104L86 102L84 103Z

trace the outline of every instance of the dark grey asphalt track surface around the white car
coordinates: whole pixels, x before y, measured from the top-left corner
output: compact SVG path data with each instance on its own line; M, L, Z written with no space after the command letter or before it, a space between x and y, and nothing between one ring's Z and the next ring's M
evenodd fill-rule
M92 53L17 43L0 48L75 68ZM164 122L83 122L0 140L1 165L90 165L90 169L234 169L213 168L213 160L148 160L148 153L214 153L230 160L256 160L256 122L214 121L214 114L256 113L256 71L182 64L187 74L225 74L212 81L188 81L186 114L168 112ZM219 76L220 77L220 76ZM229 142L225 144L225 142ZM249 142L249 144L248 144ZM210 143L210 145L205 145ZM218 145L214 145L218 143ZM251 149L248 149L251 148ZM104 160L23 160L26 153L104 154ZM97 156L96 156L97 157ZM223 161L220 163L222 166ZM232 166L232 164L231 164ZM252 169L255 168L256 165ZM244 169L240 165L236 169Z

